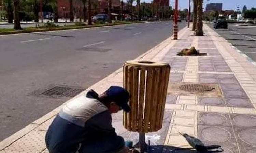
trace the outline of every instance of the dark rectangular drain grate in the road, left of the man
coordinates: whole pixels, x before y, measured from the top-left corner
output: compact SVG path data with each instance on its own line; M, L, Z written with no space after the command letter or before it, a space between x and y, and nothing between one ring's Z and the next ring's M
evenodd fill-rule
M74 97L84 89L55 86L42 94L46 96Z

